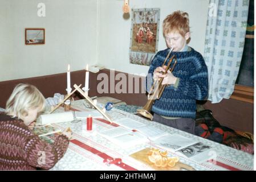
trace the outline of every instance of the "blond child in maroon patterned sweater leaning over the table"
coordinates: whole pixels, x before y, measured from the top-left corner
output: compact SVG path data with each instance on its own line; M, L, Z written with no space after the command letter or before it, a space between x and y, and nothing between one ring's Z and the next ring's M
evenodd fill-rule
M71 132L49 144L29 128L44 104L44 97L35 86L15 86L5 112L0 113L0 170L50 169L63 157Z

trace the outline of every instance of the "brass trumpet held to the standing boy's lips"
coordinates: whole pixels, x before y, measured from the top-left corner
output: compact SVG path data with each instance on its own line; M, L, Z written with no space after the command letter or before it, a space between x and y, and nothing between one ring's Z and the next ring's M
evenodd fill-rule
M164 65L165 65L166 61L168 60L172 50L173 50L173 48L170 49L170 52L165 57L164 63L162 64L162 67L164 67ZM170 65L171 65L173 60L174 60L174 64L170 68ZM162 74L166 74L168 72L168 70L170 70L170 72L172 72L176 63L177 63L177 57L176 57L176 55L173 55L169 59L169 62L166 65L165 71ZM146 103L146 105L142 109L137 109L138 114L142 115L145 118L150 119L151 121L153 121L153 115L151 114L152 105L154 104L156 99L158 100L162 96L162 92L164 92L164 89L165 89L165 86L166 86L166 85L162 85L162 80L164 80L164 78L160 78L160 80L155 80L154 81L154 84L152 85L152 87L151 87L151 89L149 90L149 93L148 93L148 102Z

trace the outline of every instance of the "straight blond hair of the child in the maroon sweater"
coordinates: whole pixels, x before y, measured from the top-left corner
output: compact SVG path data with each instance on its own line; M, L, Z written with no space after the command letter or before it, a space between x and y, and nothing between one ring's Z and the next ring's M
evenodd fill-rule
M40 107L43 110L44 105L43 94L34 85L18 84L6 102L5 112L20 119L27 116L29 109Z

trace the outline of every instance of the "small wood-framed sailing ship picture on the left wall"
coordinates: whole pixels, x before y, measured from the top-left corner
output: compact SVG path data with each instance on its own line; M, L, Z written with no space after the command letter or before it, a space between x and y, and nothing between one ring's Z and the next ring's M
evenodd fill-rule
M45 44L44 28L25 28L25 44L38 45Z

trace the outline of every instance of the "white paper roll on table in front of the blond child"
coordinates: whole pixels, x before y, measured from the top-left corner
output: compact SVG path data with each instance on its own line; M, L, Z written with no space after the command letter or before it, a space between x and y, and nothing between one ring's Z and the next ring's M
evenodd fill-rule
M36 125L47 125L51 123L62 123L74 121L73 111L54 114L42 114L36 119Z

